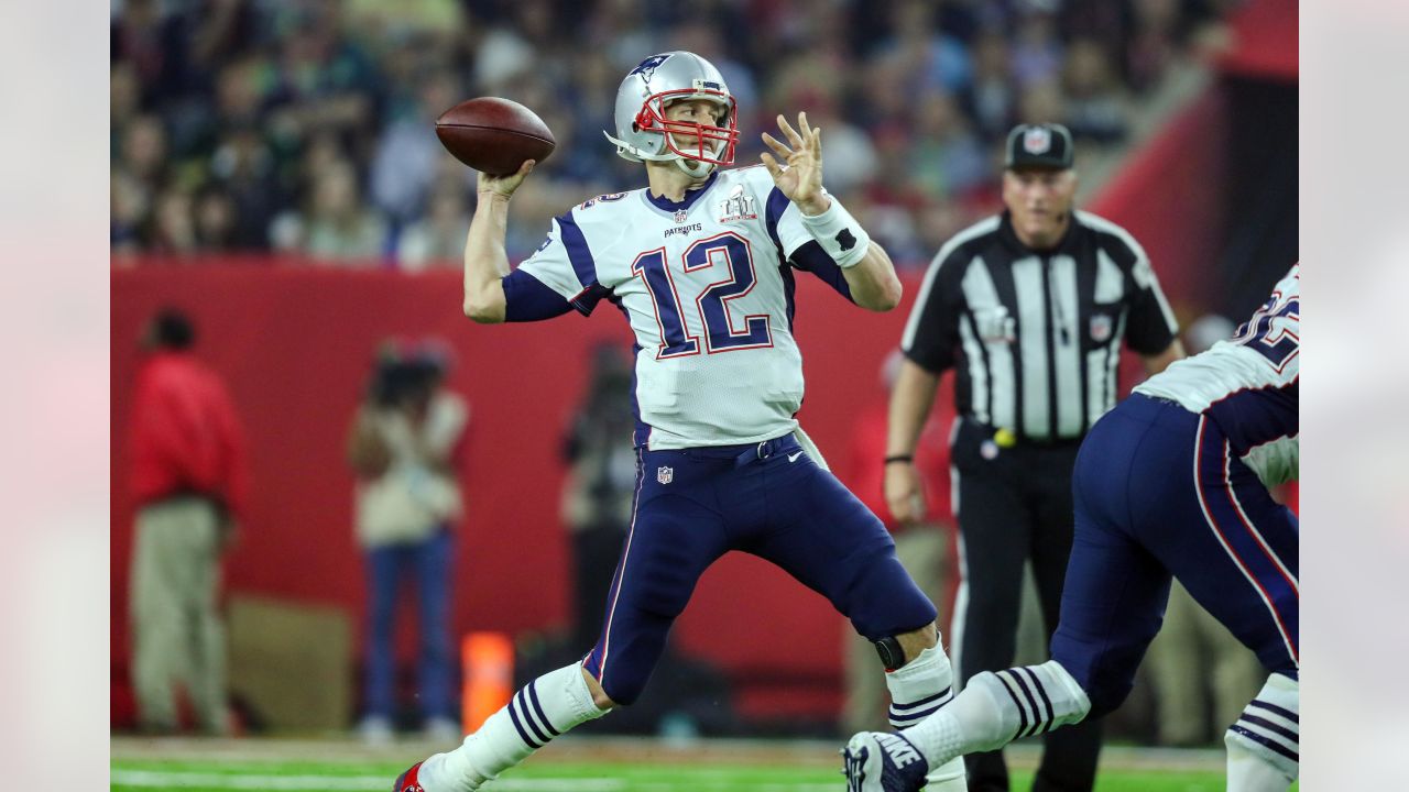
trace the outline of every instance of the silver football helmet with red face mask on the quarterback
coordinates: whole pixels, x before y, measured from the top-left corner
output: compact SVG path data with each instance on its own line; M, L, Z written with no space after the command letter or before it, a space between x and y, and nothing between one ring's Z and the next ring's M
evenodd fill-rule
M704 99L719 104L717 125L668 121L666 104ZM662 52L641 61L617 89L617 155L631 162L675 162L689 176L707 176L717 165L733 165L738 144L737 110L723 75L693 52ZM693 135L683 148L672 134Z

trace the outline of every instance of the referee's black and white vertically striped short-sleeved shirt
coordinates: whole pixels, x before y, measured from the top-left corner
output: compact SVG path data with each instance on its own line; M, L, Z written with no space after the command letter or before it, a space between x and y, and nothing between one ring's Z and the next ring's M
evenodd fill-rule
M1115 406L1120 338L1155 355L1177 331L1124 228L1074 211L1061 244L1038 252L1005 211L934 256L900 348L931 373L957 368L960 414L1044 443L1082 437Z

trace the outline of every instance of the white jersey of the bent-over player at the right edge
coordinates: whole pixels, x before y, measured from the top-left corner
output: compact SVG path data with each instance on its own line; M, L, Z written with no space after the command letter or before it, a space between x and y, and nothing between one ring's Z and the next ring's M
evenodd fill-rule
M1134 392L1208 413L1233 451L1272 486L1301 475L1301 265L1231 340L1177 361Z

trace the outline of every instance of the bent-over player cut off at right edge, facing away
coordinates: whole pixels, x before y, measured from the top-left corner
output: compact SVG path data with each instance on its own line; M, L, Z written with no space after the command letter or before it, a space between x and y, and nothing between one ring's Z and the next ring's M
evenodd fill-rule
M1229 792L1284 792L1299 764L1299 523L1267 488L1299 475L1299 382L1298 265L1231 340L1151 376L1086 435L1053 660L979 674L902 734L857 734L851 789L921 786L892 768L896 743L924 767L1113 710L1174 576L1271 672L1224 734Z

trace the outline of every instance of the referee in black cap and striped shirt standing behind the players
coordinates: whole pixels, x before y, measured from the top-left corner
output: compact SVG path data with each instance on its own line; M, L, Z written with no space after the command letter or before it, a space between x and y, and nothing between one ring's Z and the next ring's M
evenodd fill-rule
M1075 192L1065 127L1009 132L1007 210L940 249L900 342L885 490L902 523L924 517L912 455L940 375L954 368L957 376L961 586L950 640L962 681L1012 665L1024 561L1048 638L1057 627L1072 543L1071 471L1086 430L1116 403L1122 340L1150 373L1184 357L1140 244L1109 220L1074 211ZM1047 734L1034 792L1089 792L1099 751L1099 723ZM1007 792L1000 751L967 762L971 792Z

